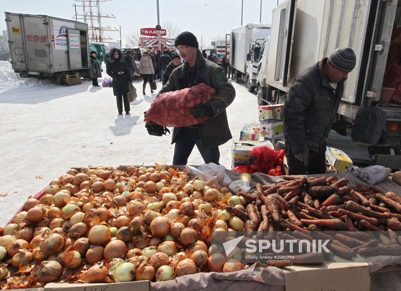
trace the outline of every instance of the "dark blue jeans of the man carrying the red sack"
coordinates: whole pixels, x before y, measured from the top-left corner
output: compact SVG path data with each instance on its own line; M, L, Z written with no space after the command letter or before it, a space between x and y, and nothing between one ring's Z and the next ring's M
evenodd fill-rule
M180 137L175 142L173 165L186 165L186 163L188 162L188 157L191 154L195 144L199 150L199 153L201 153L201 156L203 158L203 161L205 161L205 164L215 163L217 165L220 165L219 147L203 149L202 142L200 139L187 138L187 137Z

